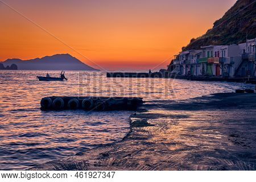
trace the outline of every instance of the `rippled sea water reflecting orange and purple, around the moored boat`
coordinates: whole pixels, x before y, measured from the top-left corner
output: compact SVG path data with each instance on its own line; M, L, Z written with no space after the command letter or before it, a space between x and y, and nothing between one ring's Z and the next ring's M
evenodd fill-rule
M124 96L144 101L184 100L254 85L169 78L106 78L102 72L66 72L68 81L36 81L47 71L0 71L0 170L28 169L121 140L132 111L41 111L47 96ZM51 76L59 72L49 71Z

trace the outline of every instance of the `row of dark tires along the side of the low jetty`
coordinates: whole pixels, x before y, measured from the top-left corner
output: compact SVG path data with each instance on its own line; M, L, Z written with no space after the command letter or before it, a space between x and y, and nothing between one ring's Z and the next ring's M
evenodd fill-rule
M80 102L77 98L71 98L68 100L67 104L65 104L62 98L54 98L53 100L50 97L42 98L41 107L44 110L62 110L62 109L85 109L85 110L105 110L106 102L105 101L93 101L90 98L86 98Z

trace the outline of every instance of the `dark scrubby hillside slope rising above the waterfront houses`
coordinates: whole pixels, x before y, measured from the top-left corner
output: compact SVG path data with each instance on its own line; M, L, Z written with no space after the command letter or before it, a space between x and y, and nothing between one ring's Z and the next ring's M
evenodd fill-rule
M229 45L256 38L256 0L238 0L225 15L213 23L213 28L191 39L183 51L207 45Z

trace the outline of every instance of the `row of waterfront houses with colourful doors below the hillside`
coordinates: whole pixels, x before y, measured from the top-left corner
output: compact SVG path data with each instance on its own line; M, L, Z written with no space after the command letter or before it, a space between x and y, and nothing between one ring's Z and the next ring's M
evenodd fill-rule
M183 76L255 77L256 38L230 46L203 46L175 55L168 70Z

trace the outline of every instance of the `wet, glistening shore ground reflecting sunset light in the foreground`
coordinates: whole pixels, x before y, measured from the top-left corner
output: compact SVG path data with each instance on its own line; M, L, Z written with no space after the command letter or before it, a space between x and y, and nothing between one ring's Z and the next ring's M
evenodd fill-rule
M256 94L146 102L123 140L34 170L255 170Z

